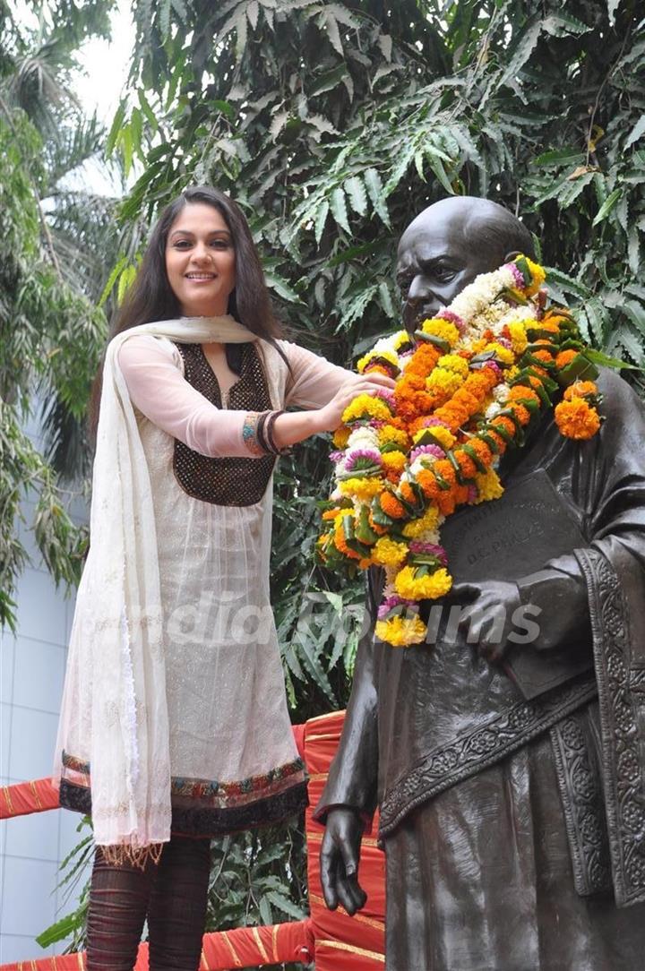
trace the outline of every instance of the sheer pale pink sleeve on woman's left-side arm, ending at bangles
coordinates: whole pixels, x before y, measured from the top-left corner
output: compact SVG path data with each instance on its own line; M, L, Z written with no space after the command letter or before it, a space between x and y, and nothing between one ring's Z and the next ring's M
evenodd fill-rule
M266 454L256 437L255 412L217 408L188 384L182 359L167 340L138 334L119 350L132 403L168 435L211 457Z

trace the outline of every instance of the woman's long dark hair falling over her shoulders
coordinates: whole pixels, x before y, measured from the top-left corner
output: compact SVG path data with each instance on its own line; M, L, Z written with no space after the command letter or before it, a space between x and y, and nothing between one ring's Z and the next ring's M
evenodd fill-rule
M235 288L228 298L227 312L275 347L276 339L282 336L282 329L271 308L271 298L264 282L249 223L232 199L210 185L195 185L185 189L166 206L155 222L135 281L127 291L111 327L110 339L122 330L136 327L140 323L172 320L182 316L179 301L168 283L166 245L175 219L191 203L203 203L217 209L231 234L235 250ZM102 373L101 361L89 402L89 427L92 437L98 423Z

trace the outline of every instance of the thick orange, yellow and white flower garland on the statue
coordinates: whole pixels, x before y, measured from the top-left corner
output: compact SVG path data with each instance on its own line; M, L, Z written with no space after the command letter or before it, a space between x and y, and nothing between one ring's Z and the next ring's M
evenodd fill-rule
M360 358L361 374L396 380L360 394L334 434L335 488L318 550L332 569L386 570L376 635L420 644L419 601L452 586L440 528L458 506L498 498L496 473L526 426L552 407L560 433L591 438L600 426L594 364L575 322L546 309L541 266L518 256L466 286L417 342L404 330Z

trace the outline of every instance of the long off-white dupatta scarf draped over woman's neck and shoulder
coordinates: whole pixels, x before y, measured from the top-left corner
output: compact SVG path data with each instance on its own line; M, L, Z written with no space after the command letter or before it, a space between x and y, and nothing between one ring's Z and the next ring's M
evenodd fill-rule
M79 734L91 771L96 843L115 861L158 859L170 839L170 756L163 625L153 494L119 348L138 334L185 344L246 343L255 334L231 317L160 320L108 345L92 476L90 549L79 587L56 744ZM74 676L76 667L83 674ZM91 692L79 725L79 691ZM71 750L74 751L73 749Z

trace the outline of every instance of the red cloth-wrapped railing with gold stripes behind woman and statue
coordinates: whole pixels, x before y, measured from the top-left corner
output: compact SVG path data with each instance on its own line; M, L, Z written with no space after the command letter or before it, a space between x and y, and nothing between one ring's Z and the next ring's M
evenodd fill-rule
M332 712L294 725L298 751L309 771L309 801L315 807L338 747L344 712ZM0 819L41 813L58 807L58 792L50 779L0 788ZM339 907L328 911L322 899L319 853L323 827L306 814L311 917L269 927L239 927L204 936L202 971L269 966L282 961L308 963L316 956L316 971L376 971L385 965L385 857L376 840L362 840L359 880L367 904L354 918ZM374 831L378 820L375 820ZM0 971L84 971L84 954L46 957L0 965ZM148 945L142 945L136 971L148 969Z

